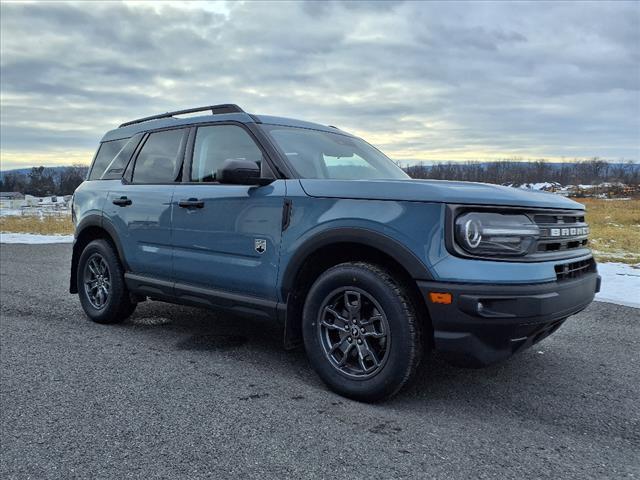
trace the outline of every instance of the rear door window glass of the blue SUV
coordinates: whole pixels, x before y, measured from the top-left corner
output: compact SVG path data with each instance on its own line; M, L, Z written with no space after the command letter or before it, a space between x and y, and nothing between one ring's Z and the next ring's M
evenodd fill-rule
M149 135L133 167L134 183L171 183L180 174L180 152L185 130L165 130Z

